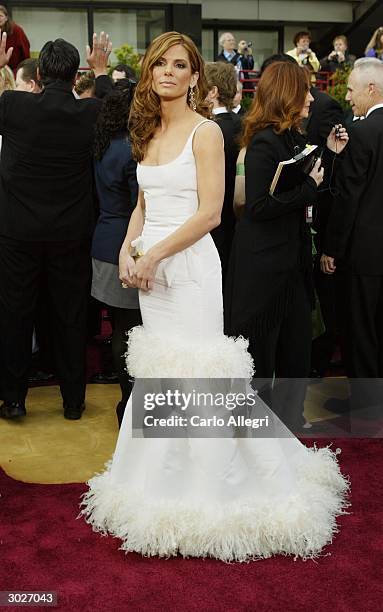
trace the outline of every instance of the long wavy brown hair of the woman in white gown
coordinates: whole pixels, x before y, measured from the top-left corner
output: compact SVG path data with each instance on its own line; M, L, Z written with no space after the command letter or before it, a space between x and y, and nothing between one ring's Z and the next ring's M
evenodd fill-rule
M204 75L204 61L196 45L189 36L179 32L165 32L157 36L144 55L141 77L136 87L129 118L129 137L133 157L137 161L141 161L145 157L149 141L161 123L160 98L152 87L153 68L157 61L174 45L185 47L192 74L195 72L199 74L198 83L194 88L196 112L204 117L210 117L210 106L205 100L208 86ZM189 104L189 91L187 102Z

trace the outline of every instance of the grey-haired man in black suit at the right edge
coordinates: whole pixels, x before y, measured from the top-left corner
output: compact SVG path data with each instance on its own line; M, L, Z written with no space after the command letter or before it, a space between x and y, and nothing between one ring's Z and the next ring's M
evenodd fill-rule
M337 177L321 266L345 266L347 345L352 407L382 403L383 377L383 63L362 58L351 72L346 100L365 116L350 131ZM355 379L370 379L369 384Z

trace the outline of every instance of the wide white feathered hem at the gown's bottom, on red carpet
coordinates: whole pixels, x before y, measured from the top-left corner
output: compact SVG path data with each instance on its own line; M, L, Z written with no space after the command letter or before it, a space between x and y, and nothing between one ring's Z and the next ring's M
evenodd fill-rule
M188 504L148 499L111 482L110 466L89 481L81 514L94 531L122 540L121 549L144 556L213 557L251 561L276 554L315 558L338 532L336 516L347 514L348 479L336 453L307 449L294 492L269 503L256 497L228 504Z

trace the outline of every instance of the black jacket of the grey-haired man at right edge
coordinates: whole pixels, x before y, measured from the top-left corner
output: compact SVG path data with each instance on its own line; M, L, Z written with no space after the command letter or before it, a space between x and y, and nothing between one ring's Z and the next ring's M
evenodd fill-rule
M383 275L383 108L350 129L324 252L356 274Z

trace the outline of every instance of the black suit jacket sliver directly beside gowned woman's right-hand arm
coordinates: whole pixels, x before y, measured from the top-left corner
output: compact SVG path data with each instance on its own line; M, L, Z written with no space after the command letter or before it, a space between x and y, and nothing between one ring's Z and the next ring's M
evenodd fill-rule
M236 162L240 148L239 136L242 122L233 112L219 113L215 115L215 120L222 130L225 143L225 197L222 207L221 223L211 232L211 235L218 249L222 262L223 275L225 275L236 222L233 211L233 199Z

